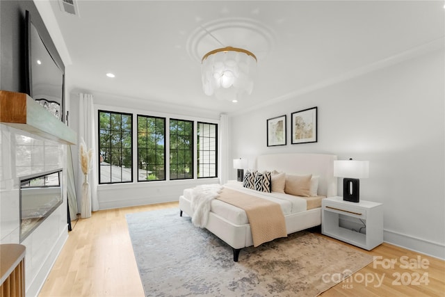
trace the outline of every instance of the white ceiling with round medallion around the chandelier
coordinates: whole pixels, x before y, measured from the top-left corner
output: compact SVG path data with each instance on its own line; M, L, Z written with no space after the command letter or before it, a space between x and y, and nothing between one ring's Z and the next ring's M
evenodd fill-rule
M298 97L444 47L444 1L77 0L74 16L50 3L71 62L68 92L209 113ZM236 104L202 90L200 59L221 45L258 58L252 95Z

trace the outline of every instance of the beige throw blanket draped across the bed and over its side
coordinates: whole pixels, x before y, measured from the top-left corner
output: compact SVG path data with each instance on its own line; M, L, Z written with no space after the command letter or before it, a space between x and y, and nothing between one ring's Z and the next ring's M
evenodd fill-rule
M253 246L287 236L280 204L229 188L223 188L216 199L245 211L252 231Z

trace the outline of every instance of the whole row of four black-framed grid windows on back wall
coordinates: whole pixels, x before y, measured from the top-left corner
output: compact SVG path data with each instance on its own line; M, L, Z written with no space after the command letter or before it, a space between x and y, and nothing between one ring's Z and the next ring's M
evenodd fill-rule
M101 110L98 119L99 184L218 177L216 123Z

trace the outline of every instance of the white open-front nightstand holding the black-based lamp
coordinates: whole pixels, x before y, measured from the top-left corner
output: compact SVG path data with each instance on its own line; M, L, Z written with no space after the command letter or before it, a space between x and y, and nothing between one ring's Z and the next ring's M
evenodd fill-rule
M322 234L365 250L372 250L383 242L383 204L364 200L348 202L339 196L321 201Z

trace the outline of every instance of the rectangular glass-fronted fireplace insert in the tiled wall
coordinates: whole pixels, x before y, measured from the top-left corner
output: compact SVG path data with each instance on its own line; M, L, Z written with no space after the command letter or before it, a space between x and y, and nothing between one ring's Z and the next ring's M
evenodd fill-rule
M26 239L63 202L63 170L21 177L20 242Z

